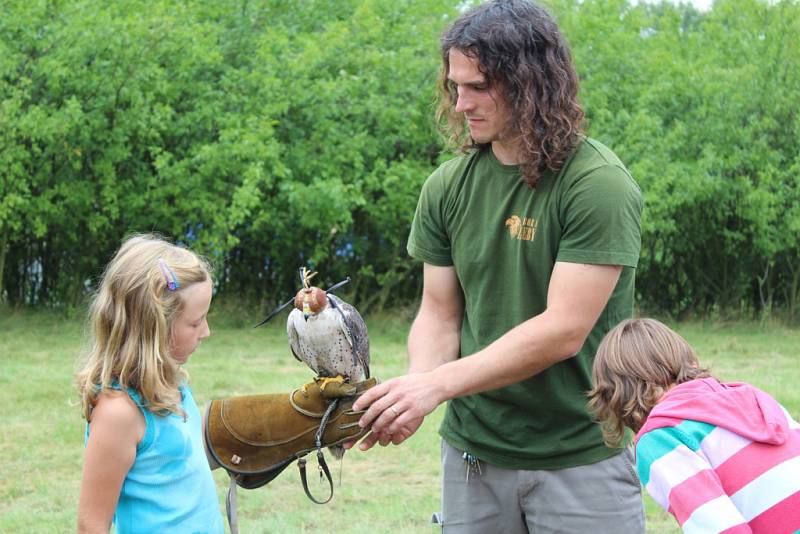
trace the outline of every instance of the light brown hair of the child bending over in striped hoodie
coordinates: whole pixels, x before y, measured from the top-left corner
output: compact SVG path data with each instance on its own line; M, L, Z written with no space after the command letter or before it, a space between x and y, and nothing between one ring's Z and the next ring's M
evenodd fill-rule
M589 409L600 421L606 444L618 447L625 427L637 432L672 386L710 376L692 347L655 319L629 319L597 349Z

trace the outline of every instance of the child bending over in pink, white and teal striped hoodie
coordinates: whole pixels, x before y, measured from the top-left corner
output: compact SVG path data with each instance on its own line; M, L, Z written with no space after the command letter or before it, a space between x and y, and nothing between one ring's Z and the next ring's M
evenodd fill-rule
M639 478L684 532L800 530L800 425L771 396L719 382L654 319L612 329L592 378L606 442L636 432Z

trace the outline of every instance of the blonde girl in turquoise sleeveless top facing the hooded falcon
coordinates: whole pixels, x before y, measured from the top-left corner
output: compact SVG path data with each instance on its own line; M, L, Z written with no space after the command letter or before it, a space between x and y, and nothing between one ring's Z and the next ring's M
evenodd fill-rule
M76 376L86 426L78 531L223 532L201 416L181 368L210 335L209 265L152 235L108 264Z

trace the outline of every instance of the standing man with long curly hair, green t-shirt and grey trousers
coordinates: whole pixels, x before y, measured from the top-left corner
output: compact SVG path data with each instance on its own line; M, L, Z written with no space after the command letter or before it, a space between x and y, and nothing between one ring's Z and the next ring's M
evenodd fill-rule
M446 532L643 532L630 450L586 407L592 358L633 312L642 198L586 137L569 47L526 0L441 39L440 125L462 148L425 182L408 240L424 262L409 374L368 391L360 448L440 428Z

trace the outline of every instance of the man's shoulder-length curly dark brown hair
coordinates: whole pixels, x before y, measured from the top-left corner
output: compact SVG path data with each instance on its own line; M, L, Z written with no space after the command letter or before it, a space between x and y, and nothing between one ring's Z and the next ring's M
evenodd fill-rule
M493 0L459 17L440 41L437 122L453 146L480 148L456 113L457 94L448 81L449 54L456 49L478 59L490 87L511 109L507 133L522 152L522 179L536 187L546 169L558 171L582 134L578 75L566 39L555 20L527 0Z

